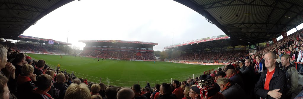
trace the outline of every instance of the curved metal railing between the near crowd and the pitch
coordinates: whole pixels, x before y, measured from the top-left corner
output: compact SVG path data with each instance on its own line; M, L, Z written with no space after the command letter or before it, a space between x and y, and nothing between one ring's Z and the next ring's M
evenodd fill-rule
M50 68L52 68L54 70L57 69L57 66L55 66L55 65L52 65L49 63L45 63L45 64L47 64ZM222 66L222 68L223 68L223 66ZM62 71L64 73L64 70L65 69L61 67L59 72ZM217 70L217 69L215 69L215 70ZM148 83L150 83L151 89L155 88L155 84L172 83L173 80L184 81L184 80L188 80L189 78L200 77L201 75L203 75L203 72L201 72L201 73L195 73L195 74L187 75L187 76L183 76L183 77L168 78L168 79L164 79L164 80L148 80L146 82L146 81L111 80L108 78L93 77L93 76L85 75L82 73L77 73L77 72L70 71L70 70L66 70L66 73L67 74L69 73L72 77L87 79L88 82L92 82L95 84L104 83L105 85L112 85L114 88L132 87L132 85L134 85L134 84L139 84L141 87L145 87L148 82Z

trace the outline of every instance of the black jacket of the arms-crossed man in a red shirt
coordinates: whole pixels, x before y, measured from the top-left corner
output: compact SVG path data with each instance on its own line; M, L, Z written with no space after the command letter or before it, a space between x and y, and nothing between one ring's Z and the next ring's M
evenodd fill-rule
M285 98L285 85L286 85L286 76L285 73L280 70L278 67L275 67L275 73L273 74L269 82L269 90L264 89L265 78L267 70L261 73L260 79L255 85L255 93L257 94L258 99L262 97L263 99L274 99L273 97L267 95L269 90L280 89L278 92L282 93L281 99Z

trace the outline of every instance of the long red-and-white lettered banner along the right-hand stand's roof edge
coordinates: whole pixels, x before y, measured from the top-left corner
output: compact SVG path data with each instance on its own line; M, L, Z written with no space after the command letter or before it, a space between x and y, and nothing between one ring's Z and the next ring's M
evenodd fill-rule
M196 40L192 40L192 41L188 41L188 42L184 42L184 43L178 43L175 45L166 46L166 47L164 47L164 49L169 49L172 47L184 46L184 45L189 45L189 44L195 44L195 43L201 43L201 42L220 40L220 39L229 39L229 37L227 35L221 35L221 36L213 36L213 37L208 37L208 38L203 38L203 39L196 39Z

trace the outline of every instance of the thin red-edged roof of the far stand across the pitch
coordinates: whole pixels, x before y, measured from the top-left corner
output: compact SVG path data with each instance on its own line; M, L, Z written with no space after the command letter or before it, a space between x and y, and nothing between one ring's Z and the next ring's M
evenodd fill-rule
M143 45L158 45L158 43L151 43L151 42L142 42L142 41L123 41L123 40L79 40L78 42L82 43L133 43L133 44L143 44Z

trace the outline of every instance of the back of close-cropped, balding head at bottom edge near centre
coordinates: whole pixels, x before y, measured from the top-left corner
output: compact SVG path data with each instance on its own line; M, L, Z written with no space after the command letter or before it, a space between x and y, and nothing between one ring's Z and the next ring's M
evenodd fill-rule
M122 88L118 91L117 99L133 99L135 93L130 88Z

